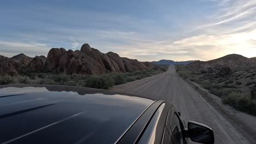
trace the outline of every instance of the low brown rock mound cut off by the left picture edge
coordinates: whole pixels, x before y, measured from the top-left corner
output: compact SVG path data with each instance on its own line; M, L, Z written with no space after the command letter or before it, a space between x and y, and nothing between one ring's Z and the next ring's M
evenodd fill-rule
M17 61L0 55L0 75L18 76L20 70Z

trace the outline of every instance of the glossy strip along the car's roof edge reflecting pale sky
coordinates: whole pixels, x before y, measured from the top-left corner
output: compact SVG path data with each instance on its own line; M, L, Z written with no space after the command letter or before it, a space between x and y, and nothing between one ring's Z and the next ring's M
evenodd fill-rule
M146 131L144 132L139 143L154 143L156 135L156 127L158 125L159 118L161 116L162 110L164 109L165 104L162 104L159 109L155 112L152 120L150 121Z

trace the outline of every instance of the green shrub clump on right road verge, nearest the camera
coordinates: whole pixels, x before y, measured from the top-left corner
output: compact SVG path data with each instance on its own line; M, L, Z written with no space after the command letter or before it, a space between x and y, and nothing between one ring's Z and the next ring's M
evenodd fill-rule
M232 92L222 99L224 104L229 104L235 109L256 115L256 105L252 102L249 95L242 95L241 93Z

